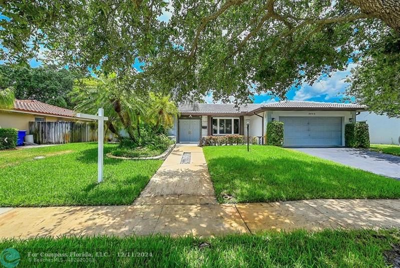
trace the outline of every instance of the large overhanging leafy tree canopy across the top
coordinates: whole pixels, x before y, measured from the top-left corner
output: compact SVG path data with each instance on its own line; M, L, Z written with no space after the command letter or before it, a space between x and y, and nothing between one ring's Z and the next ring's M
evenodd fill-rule
M167 4L6 2L2 58L23 62L46 48L60 64L106 73L130 69L137 92L153 88L181 100L212 90L216 99L245 102L261 92L284 98L291 86L343 70L349 58L367 66L366 59L379 58L374 44L400 32L396 0L174 1L171 19L163 22L158 18ZM133 68L135 60L143 73ZM353 90L365 85L366 74L366 68L353 73ZM395 92L398 81L380 79Z

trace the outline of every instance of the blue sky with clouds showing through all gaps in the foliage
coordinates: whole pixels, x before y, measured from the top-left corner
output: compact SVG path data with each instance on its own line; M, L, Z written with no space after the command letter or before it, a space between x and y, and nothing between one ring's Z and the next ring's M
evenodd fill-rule
M158 19L163 22L168 22L172 16L172 12L173 7L170 3L170 5L167 7L167 9L164 9L163 14ZM0 20L7 19L7 17L0 14ZM4 48L0 47L0 49ZM41 51L37 58L30 61L30 65L33 68L37 68L42 65L40 58L43 57L43 52L44 51ZM4 64L4 62L0 61L0 64ZM137 59L135 60L133 66L138 71L141 71L142 64ZM286 94L286 97L288 100L297 101L340 102L344 96L343 94L345 88L348 86L348 83L345 82L345 79L350 75L350 70L354 67L355 65L352 64L350 60L345 71L333 72L330 77L320 77L320 79L312 85L304 83L298 88L292 87ZM208 103L213 101L218 102L218 100L213 100L212 93L210 93L208 96L205 96L204 99ZM275 101L278 101L278 99L271 98L271 96L266 93L254 96L254 103L268 103Z

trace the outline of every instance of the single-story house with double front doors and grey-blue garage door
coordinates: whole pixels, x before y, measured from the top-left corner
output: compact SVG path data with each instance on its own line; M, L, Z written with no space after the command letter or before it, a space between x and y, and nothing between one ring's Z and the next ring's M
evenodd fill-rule
M239 109L238 109L239 108ZM364 106L344 103L282 101L268 104L186 104L170 135L177 142L197 143L202 136L263 137L268 122L284 122L284 146L344 146L344 125L355 122Z

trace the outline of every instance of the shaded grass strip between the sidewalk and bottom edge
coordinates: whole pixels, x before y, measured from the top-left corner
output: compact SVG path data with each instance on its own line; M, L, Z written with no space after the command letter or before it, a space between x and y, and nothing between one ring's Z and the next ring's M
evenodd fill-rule
M18 267L35 265L33 257L29 261L28 252L88 252L93 255L107 252L109 255L95 256L94 262L66 262L67 257L61 257L64 261L57 265L55 262L36 262L41 267L386 267L395 261L391 245L399 242L398 230L324 230L314 233L298 230L216 238L158 235L35 238L3 240L0 248L11 247L19 251ZM121 256L121 252L144 252L145 256Z

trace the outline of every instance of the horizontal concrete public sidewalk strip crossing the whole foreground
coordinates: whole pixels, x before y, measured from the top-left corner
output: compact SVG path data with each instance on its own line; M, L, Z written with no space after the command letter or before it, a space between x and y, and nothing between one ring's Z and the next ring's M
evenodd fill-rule
M13 208L0 238L60 235L196 236L261 230L400 227L400 200L319 199L250 204Z

